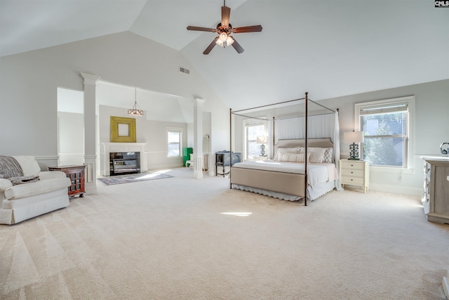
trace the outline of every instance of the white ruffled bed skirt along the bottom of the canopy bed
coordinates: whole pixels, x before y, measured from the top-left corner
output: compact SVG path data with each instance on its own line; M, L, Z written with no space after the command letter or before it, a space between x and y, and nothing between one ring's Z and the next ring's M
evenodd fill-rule
M273 192L271 190L262 190L260 188L251 188L249 186L239 185L236 183L232 184L232 188L235 188L237 190L246 190L248 192L257 193L257 194L265 195L265 196L269 196L269 197L274 197L274 198L278 198L281 200L297 201L297 200L302 199L302 197L299 197L299 196ZM314 188L311 188L309 186L309 188L307 188L308 200L313 201L316 198L321 197L322 195L324 195L326 193L329 193L334 188L335 188L335 181L328 181L326 183L321 183L319 185L315 185Z

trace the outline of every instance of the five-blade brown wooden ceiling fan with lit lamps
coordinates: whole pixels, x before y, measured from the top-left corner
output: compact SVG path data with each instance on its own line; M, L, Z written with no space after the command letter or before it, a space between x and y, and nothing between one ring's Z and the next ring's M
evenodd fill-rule
M203 52L204 55L209 54L209 52L215 47L215 45L219 45L222 47L233 46L236 49L237 53L242 53L243 48L239 43L231 36L232 33L243 33L243 32L261 32L261 25L253 25L253 26L244 26L244 27L236 27L232 28L232 25L229 24L229 15L231 15L231 8L226 6L226 0L223 0L222 6L222 22L218 23L217 28L207 28L207 27L197 27L197 26L187 26L187 30L196 30L196 31L205 31L205 32L217 32L218 37L210 43L208 48Z

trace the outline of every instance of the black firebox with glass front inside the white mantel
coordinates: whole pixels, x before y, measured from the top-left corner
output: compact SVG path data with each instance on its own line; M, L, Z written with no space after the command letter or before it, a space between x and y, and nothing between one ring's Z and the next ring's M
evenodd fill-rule
M140 173L140 152L109 152L109 175Z

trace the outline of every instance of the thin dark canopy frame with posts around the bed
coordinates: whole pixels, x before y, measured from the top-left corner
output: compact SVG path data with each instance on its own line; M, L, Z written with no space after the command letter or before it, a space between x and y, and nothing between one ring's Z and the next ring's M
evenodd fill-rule
M257 106L257 107L250 107L250 108L245 108L243 110L232 110L232 108L229 109L229 152L230 155L232 157L232 115L237 115L240 117L248 117L250 119L260 119L263 121L272 121L273 126L272 126L272 140L273 140L273 148L274 149L274 145L276 143L276 137L275 137L275 130L274 130L274 121L275 121L275 117L273 117L273 119L265 119L265 118L260 118L260 117L252 117L252 116L248 116L248 115L241 115L241 112L248 112L248 110L257 110L257 109L261 109L261 108L269 108L269 107L273 107L276 105L284 105L287 103L294 103L297 101L302 101L304 100L304 122L305 122L305 126L304 126L304 148L305 148L305 157L307 157L307 140L308 140L308 136L307 136L307 126L308 126L308 117L309 117L309 102L314 103L316 105L319 105L320 107L323 107L326 110L329 110L330 113L335 113L335 112L339 112L339 109L337 108L337 110L332 110L329 107L326 107L324 105L321 105L319 103L316 103L316 101L310 100L309 99L309 93L305 92L305 96L303 98L298 98L298 99L294 99L294 100L286 100L283 102L278 102L278 103L272 103L272 104L267 104L267 105L261 105L261 106ZM277 120L282 120L282 119L291 119L293 117L286 117L286 118L280 118ZM335 160L337 160L335 158ZM232 164L231 164L232 167ZM232 171L229 171L229 188L232 189L232 183L231 183L231 176L232 176ZM304 206L307 206L307 162L304 163Z

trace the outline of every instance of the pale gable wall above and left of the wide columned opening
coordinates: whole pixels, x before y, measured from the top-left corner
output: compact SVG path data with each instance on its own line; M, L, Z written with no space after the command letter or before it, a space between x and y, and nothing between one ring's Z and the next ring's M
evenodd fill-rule
M83 91L80 72L186 99L203 98L222 148L227 108L179 51L130 32L0 58L0 153L58 158L57 89ZM179 72L187 67L189 76ZM225 127L225 128L224 128ZM95 129L90 129L95 130ZM139 133L138 133L139 134ZM138 136L139 138L139 136Z

